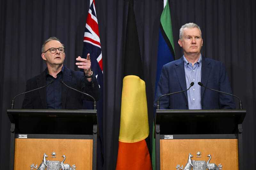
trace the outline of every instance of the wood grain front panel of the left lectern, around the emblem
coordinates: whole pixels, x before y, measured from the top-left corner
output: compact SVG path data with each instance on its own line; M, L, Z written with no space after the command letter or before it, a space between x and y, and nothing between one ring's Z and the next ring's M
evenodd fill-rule
M56 152L56 158L52 157ZM46 160L62 161L76 169L92 169L92 139L15 139L15 170L30 169L30 165L42 163L44 153Z

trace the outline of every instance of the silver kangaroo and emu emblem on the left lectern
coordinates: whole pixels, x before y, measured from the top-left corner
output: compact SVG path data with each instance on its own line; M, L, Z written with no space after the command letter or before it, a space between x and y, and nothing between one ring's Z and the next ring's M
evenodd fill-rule
M56 153L55 152L52 152L52 158L56 158ZM46 160L46 158L48 157L48 155L46 155L44 153L44 156L43 156L43 160L42 160L42 163L37 167L37 164L31 164L30 165L30 170L33 170L33 169L37 169L37 170L76 170L76 166L75 164L70 166L69 164L65 164L64 161L66 159L66 156L63 155L63 160L60 162L60 161L50 161L50 160Z

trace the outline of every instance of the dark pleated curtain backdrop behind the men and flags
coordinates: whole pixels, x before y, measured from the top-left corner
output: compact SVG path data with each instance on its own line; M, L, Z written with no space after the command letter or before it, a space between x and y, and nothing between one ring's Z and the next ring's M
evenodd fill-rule
M244 169L256 169L255 54L256 3L254 0L169 0L176 59L179 28L195 22L202 30L202 55L225 63L233 93L241 97L247 115L243 123ZM65 65L75 70L82 54L89 0L0 1L0 169L9 169L10 122L6 109L25 84L45 68L41 45L58 37L67 49ZM135 0L149 114L153 110L159 17L162 0ZM104 69L104 169L115 169L121 109L123 43L128 1L96 0ZM23 97L16 100L20 108ZM236 102L238 108L238 102ZM36 148L35 148L36 149ZM225 152L225 151L220 151ZM228 169L226 167L225 169Z

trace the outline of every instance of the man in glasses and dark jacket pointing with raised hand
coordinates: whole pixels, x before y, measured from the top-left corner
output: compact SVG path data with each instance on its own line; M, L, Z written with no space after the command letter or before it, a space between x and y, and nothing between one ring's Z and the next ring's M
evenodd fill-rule
M61 83L92 95L99 99L100 90L95 75L91 70L90 54L87 58L76 58L76 65L84 72L73 71L63 65L65 59L64 45L56 37L50 37L42 46L42 58L47 68L39 75L27 81L27 90L45 88L29 92L25 95L22 108L26 109L82 109L83 100L91 98L69 89Z

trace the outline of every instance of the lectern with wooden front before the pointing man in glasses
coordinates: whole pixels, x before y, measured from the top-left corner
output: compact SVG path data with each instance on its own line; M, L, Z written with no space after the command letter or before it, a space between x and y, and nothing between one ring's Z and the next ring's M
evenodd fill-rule
M10 170L96 170L97 110L7 109L7 114Z

